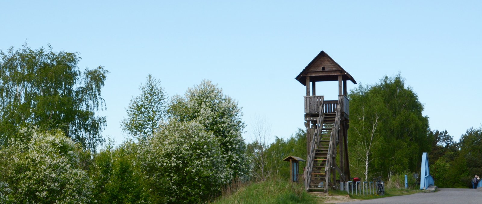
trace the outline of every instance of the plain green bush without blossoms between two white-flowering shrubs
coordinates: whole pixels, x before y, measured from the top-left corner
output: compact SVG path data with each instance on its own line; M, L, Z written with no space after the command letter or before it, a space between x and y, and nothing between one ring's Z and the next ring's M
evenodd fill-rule
M108 145L96 153L94 164L90 167L94 180L93 196L99 203L135 204L149 202L149 189L146 174L141 162L144 143L124 141L113 149Z

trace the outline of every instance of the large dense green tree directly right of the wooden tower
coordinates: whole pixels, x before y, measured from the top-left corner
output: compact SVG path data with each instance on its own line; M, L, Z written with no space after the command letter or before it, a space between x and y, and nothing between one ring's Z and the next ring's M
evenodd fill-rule
M428 117L402 76L385 76L378 84L354 89L349 98L351 170L364 169L365 178L415 172L431 147Z

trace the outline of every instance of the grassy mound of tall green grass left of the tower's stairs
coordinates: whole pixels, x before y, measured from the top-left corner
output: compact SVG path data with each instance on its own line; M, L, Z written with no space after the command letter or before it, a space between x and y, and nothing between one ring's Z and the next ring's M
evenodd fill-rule
M303 189L303 182L285 178L268 178L246 184L233 193L223 195L212 204L315 204L316 197Z

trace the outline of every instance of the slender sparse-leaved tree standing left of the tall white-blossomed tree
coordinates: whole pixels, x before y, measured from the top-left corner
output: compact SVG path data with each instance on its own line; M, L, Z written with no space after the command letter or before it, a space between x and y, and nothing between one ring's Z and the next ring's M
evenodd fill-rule
M150 74L147 82L139 87L141 94L131 99L126 109L127 118L121 122L124 132L137 139L152 137L162 120L166 118L166 99L161 81Z

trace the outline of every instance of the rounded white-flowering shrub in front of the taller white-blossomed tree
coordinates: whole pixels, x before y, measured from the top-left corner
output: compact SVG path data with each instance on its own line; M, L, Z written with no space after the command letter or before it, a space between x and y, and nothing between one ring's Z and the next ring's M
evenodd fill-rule
M162 126L148 141L144 155L153 203L202 203L217 195L229 179L218 141L194 122Z

